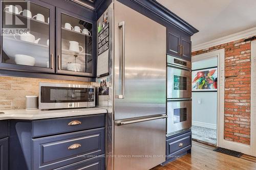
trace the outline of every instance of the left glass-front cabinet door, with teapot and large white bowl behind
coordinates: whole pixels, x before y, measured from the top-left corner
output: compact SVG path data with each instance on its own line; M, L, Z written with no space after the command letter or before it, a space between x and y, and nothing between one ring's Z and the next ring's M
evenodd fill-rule
M8 0L1 9L1 68L54 72L54 6Z

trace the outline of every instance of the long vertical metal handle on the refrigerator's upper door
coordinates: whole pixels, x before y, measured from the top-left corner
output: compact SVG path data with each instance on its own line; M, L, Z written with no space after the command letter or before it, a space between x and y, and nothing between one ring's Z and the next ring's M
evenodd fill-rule
M124 21L118 23L118 27L122 29L122 75L121 75L121 92L122 94L118 95L118 99L124 99L124 61L125 61L125 24Z

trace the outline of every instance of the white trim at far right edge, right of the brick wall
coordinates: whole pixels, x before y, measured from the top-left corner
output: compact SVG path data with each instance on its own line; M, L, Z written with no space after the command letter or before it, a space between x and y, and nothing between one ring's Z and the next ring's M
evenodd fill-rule
M251 154L256 156L256 41L251 41Z

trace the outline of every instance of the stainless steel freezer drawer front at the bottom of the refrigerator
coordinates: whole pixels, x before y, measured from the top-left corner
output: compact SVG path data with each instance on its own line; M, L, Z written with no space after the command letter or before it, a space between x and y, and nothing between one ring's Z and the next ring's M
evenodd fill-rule
M118 125L115 122L115 170L148 170L165 161L166 118Z

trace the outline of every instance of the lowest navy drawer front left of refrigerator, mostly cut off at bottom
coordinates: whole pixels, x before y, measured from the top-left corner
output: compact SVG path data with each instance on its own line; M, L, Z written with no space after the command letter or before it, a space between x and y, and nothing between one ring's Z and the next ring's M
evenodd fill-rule
M105 169L105 159L104 159L104 155L101 155L100 157L80 161L71 165L57 168L55 170L104 170L104 169Z

